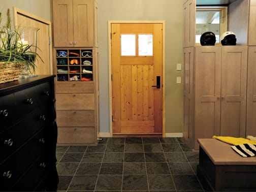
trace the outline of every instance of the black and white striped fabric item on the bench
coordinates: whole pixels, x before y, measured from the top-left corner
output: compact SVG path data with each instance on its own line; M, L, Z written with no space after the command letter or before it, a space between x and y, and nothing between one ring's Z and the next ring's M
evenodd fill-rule
M241 144L231 147L243 157L251 157L256 155L256 145L253 144Z

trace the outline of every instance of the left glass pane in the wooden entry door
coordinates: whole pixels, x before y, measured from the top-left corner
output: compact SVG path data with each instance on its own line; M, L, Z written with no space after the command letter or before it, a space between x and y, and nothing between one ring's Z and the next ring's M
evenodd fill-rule
M121 35L121 56L136 55L135 34Z

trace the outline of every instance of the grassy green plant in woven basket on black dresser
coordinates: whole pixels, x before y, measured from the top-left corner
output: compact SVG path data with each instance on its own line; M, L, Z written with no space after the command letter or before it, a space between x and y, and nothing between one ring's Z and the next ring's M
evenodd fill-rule
M0 83L5 83L17 80L23 68L33 74L37 67L35 60L42 58L37 53L36 44L22 41L24 28L12 26L10 9L7 10L6 23L1 22L0 12Z

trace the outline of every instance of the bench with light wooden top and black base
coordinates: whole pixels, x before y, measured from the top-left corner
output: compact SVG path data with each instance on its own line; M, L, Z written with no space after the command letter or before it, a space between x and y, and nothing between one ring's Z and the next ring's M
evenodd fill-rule
M197 175L206 191L256 191L256 157L242 157L217 139L198 142Z

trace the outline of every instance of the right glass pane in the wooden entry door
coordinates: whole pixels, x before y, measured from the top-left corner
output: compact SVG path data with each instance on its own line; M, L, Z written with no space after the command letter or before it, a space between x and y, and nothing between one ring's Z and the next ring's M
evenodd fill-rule
M139 56L153 55L153 35L144 34L139 35Z

